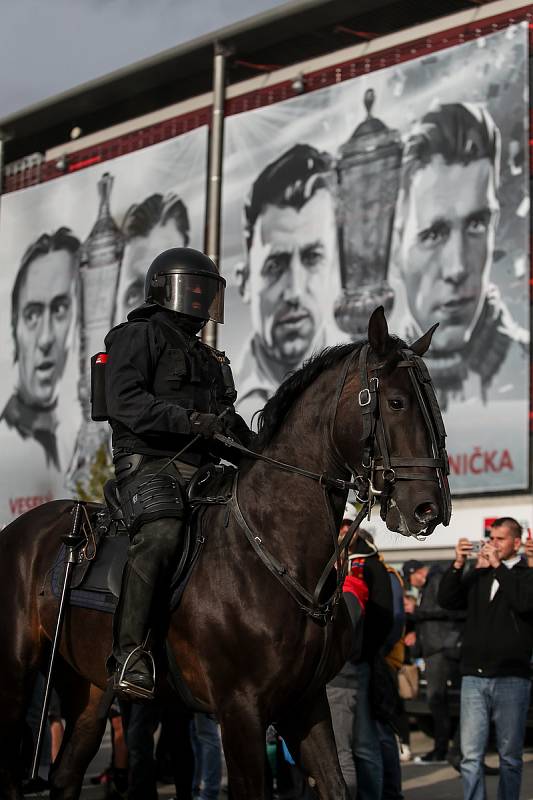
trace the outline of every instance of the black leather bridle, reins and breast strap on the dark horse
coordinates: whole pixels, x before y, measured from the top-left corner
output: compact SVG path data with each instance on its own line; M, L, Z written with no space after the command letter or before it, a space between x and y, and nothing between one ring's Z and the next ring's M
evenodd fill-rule
M361 434L361 441L364 442L363 458L361 470L354 469L350 464L347 464L342 459L338 447L335 445L333 437L333 429L335 426L335 419L337 416L337 409L339 406L342 391L344 389L350 367L352 366L356 351L351 358L348 358L344 369L339 377L337 390L335 392L335 407L332 416L332 423L330 428L331 444L337 454L337 460L343 464L354 477L353 481L345 481L341 478L332 478L325 473L311 472L301 467L296 467L293 464L286 464L283 461L278 461L269 456L264 456L262 453L256 453L249 450L244 445L235 442L228 436L216 434L215 439L223 444L236 448L247 456L272 464L278 469L286 472L302 475L317 481L324 492L324 500L328 509L330 529L333 540L334 553L324 567L322 574L318 580L314 592L309 592L291 575L288 569L282 565L265 547L264 542L249 526L246 521L238 501L238 475L234 481L233 491L231 497L227 502L231 508L235 519L240 527L244 530L246 537L260 559L263 561L269 571L280 581L289 594L294 597L300 608L305 611L313 619L325 624L331 618L335 607L337 606L342 595L342 587L346 575L347 566L347 553L350 542L357 532L361 522L365 517L370 517L372 507L375 503L376 497L381 501L381 516L386 518L387 512L390 508L392 499L392 492L394 485L399 480L431 480L437 482L440 487L442 499L442 516L443 524L447 525L450 521L451 515L451 496L448 484L448 456L445 448L446 431L444 422L440 413L439 405L433 389L431 377L428 369L424 364L422 358L414 353L409 348L396 351L401 356L394 368L402 367L409 371L409 377L414 387L415 394L422 411L422 416L428 429L429 438L431 442L431 457L395 457L390 455L390 448L387 441L385 426L383 418L380 413L380 388L379 377L372 375L369 378L369 372L379 372L384 369L388 362L381 362L374 365L369 365L370 345L365 344L359 351L359 376L360 376L360 391L358 395L358 405L363 416L363 431ZM377 446L377 447L376 447ZM377 454L379 449L379 455ZM420 474L410 473L408 470L412 467L425 467L435 470L435 476L425 476ZM407 470L407 471L406 471ZM383 488L377 490L376 474L382 473ZM355 520L350 525L348 532L343 537L342 541L338 541L338 532L336 529L333 511L328 498L328 492L333 489L337 491L348 491L353 489L359 503L361 503L361 510L357 514ZM428 531L431 533L436 527L436 523L428 526ZM429 535L426 532L426 535ZM343 554L343 556L341 555ZM320 601L322 590L331 574L334 565L337 565L337 580L336 587L333 594L326 601Z

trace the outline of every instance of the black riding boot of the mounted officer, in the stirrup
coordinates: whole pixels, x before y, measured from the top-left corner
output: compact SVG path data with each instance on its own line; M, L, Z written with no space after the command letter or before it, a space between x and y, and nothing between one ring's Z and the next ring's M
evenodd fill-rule
M130 700L154 696L154 661L147 646L153 594L153 586L126 564L113 618L113 685Z

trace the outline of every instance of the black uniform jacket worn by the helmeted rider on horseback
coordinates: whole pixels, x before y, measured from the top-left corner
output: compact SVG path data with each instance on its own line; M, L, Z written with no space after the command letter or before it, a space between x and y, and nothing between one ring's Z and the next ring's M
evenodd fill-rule
M248 443L250 432L233 407L228 359L179 321L172 311L145 306L106 336L106 403L115 453L175 455L193 437L191 411L218 415L227 409L228 430ZM222 454L231 457L227 448L217 450L201 439L182 460L201 465Z

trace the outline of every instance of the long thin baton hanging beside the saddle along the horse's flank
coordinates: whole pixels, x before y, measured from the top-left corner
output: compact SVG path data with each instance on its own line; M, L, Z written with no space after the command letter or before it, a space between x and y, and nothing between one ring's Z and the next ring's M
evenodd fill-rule
M61 599L59 601L59 610L57 612L56 629L54 632L54 639L52 642L52 652L50 654L50 663L48 664L48 673L46 675L46 685L44 689L43 705L41 708L41 719L39 720L39 730L37 733L37 742L33 752L33 762L31 766L31 780L35 780L39 773L39 762L41 760L41 750L43 747L44 739L44 726L48 716L48 707L50 705L50 695L52 693L52 675L54 672L54 663L56 659L59 642L61 640L61 630L63 628L63 618L65 616L65 608L67 605L67 595L70 589L70 582L72 580L72 570L77 563L77 556L75 551L83 541L80 536L81 517L82 517L83 503L79 500L72 509L72 527L70 533L61 537L65 544L65 577L63 578L63 587L61 589Z

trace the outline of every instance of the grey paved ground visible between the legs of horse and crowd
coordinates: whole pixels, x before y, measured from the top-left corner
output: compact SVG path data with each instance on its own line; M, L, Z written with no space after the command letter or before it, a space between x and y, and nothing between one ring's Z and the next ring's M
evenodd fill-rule
M430 748L430 740L421 733L415 733L412 739L413 754L425 753ZM110 744L106 737L100 748L98 756L91 764L88 777L101 772L109 763ZM533 800L533 749L524 755L524 781L522 784L521 800ZM489 755L487 763L497 766L496 755ZM406 764L402 768L403 789L405 800L462 800L461 779L452 767L420 767L415 764ZM498 787L497 777L487 778L488 800L496 800ZM171 798L174 794L172 786L160 786L159 797ZM46 795L26 795L26 797L46 797ZM100 786L86 785L83 790L82 800L104 800L105 791ZM226 798L226 794L221 794Z

